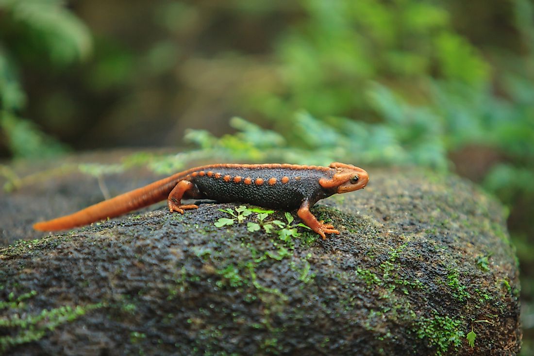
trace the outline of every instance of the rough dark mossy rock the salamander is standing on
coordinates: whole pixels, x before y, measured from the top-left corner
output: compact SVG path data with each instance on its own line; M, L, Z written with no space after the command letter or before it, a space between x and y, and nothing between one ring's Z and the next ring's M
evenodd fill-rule
M218 228L215 221L230 217L219 209L235 205L202 204L183 216L165 209L134 213L0 248L0 350L519 352L520 287L500 205L454 176L369 171L364 191L312 210L341 231L326 241L303 228L288 241L248 232L256 213ZM54 185L67 184L61 182ZM62 189L46 194L52 205L76 195L75 183ZM1 197L20 211L29 199L23 192ZM33 204L47 202L35 196ZM29 225L25 213L19 225ZM266 218L272 219L286 217L275 212ZM25 238L36 236L20 229ZM466 339L472 330L474 347Z

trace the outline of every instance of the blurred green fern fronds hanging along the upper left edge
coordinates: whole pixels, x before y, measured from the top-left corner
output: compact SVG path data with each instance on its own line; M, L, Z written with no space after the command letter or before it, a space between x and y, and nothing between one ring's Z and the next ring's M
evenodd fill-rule
M0 0L0 135L14 157L35 158L65 146L20 117L27 104L19 67L56 69L91 51L89 29L62 0Z

